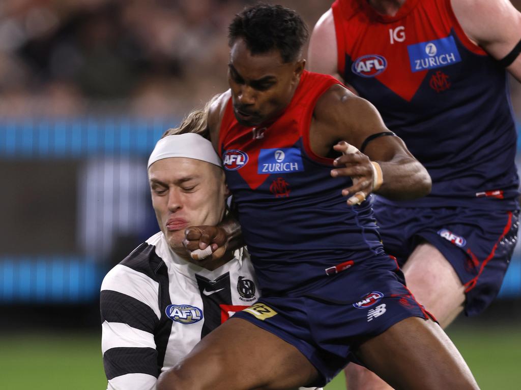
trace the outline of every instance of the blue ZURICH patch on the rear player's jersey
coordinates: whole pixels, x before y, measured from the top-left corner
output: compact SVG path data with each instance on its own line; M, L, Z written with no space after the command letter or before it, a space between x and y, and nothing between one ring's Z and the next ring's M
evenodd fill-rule
M441 68L461 62L460 52L457 50L452 36L408 45L407 51L413 72Z

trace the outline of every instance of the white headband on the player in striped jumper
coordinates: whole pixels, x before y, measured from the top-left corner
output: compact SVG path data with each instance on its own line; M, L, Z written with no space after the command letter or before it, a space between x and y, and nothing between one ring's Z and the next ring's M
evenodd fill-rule
M146 167L148 169L157 160L169 157L187 157L222 167L212 142L195 133L169 135L157 141Z

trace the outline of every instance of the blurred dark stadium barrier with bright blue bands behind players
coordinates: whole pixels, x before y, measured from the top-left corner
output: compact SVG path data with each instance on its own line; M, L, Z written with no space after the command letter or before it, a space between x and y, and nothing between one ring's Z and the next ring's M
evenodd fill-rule
M97 300L108 269L157 231L146 159L178 122L0 121L0 304ZM500 296L521 297L519 244Z

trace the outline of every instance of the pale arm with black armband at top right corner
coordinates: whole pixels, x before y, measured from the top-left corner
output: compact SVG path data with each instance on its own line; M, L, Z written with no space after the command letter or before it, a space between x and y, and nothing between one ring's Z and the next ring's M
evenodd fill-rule
M521 82L521 13L510 0L452 0L463 31ZM498 22L498 21L501 22Z

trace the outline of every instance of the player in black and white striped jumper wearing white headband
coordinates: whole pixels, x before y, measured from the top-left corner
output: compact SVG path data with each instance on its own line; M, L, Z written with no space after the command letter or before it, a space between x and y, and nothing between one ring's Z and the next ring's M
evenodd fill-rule
M221 220L229 195L220 159L210 141L196 134L206 128L205 115L192 112L157 142L148 179L160 232L103 280L102 350L109 390L155 389L162 371L259 297L244 249L215 263L212 256L201 259L204 255L197 261L197 253L194 260L182 244L187 227Z

